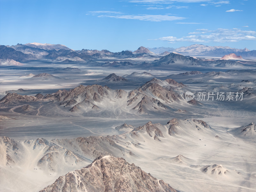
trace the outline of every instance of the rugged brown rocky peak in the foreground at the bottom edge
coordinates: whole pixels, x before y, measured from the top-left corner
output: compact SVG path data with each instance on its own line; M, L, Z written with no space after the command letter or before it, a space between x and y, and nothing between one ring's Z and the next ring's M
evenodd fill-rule
M123 158L104 156L80 170L59 177L40 192L176 192Z

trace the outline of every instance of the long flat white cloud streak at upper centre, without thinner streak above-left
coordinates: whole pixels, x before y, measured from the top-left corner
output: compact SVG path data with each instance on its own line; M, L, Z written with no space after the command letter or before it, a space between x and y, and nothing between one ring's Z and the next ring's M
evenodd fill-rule
M99 15L98 17L110 17L116 19L135 19L144 21L173 21L186 19L185 17L169 15Z

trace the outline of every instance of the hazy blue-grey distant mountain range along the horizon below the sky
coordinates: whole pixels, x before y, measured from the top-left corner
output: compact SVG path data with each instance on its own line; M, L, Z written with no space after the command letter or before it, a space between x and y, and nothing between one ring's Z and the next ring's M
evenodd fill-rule
M155 51L155 52L152 52ZM162 52L162 53L159 53ZM173 52L173 53L172 53ZM171 53L171 54L170 54ZM4 46L0 45L0 59L3 61L2 65L20 65L19 62L27 62L31 60L50 60L52 62L95 62L98 59L109 59L113 58L117 59L145 59L150 60L150 63L155 64L172 64L179 63L180 61L185 61L185 63L189 63L189 65L201 65L203 60L199 61L195 57L188 57L184 55L190 56L199 56L199 57L223 57L224 55L229 55L232 53L232 60L241 60L241 58L235 57L235 55L239 55L241 57L256 57L256 50L248 50L244 49L235 49L230 47L223 46L205 46L202 44L194 44L188 47L180 47L177 49L173 49L170 47L164 48L152 48L148 49L143 46L139 47L136 51L122 51L122 52L110 52L108 50L72 50L65 45L61 44L40 44L40 43L29 43L29 44L17 44L12 46ZM162 58L161 58L162 56ZM227 56L226 59L230 58ZM8 62L6 62L8 60ZM158 60L151 62L153 60ZM9 62L11 61L11 62ZM17 61L17 62L16 62ZM118 60L117 60L118 61ZM114 61L112 63L105 62L105 66L110 67L119 67L126 66L131 67L134 65L132 60L117 62ZM204 60L208 62L210 60ZM214 60L212 60L214 61ZM144 61L145 62L145 61ZM95 62L94 64L97 64ZM136 63L137 64L137 63ZM143 65L148 65L148 63L141 63ZM216 63L219 65L221 63ZM228 64L227 66L236 66L237 64ZM240 64L239 64L240 65ZM225 66L225 65L220 65Z

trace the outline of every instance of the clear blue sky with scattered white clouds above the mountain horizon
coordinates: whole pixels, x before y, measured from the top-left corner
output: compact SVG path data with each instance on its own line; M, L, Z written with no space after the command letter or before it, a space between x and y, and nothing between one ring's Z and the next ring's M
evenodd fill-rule
M0 44L256 49L255 0L0 0Z

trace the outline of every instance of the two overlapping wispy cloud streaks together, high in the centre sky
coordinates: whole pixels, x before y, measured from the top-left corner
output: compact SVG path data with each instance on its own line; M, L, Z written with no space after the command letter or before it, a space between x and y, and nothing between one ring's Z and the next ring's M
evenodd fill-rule
M104 13L104 14L102 14ZM173 21L173 20L183 20L185 17L171 16L170 14L165 15L148 15L148 14L138 14L138 15L125 15L122 12L114 11L91 11L87 14L98 15L97 17L109 17L116 19L133 19L133 20L144 20L144 21Z

